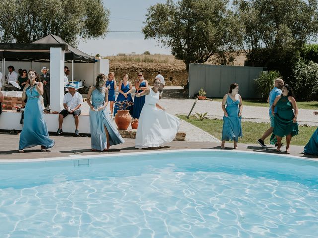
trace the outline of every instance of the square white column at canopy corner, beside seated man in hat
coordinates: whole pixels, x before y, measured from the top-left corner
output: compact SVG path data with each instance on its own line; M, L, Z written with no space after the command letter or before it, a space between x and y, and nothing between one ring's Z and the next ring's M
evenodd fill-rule
M50 106L52 111L63 108L64 96L64 51L50 48Z

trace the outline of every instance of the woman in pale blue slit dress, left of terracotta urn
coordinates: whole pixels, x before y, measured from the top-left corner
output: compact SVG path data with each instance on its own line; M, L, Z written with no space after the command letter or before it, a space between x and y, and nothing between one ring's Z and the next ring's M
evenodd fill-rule
M87 95L87 104L90 106L91 150L93 151L107 151L111 145L125 142L107 113L106 80L106 75L98 74L95 86L90 87Z

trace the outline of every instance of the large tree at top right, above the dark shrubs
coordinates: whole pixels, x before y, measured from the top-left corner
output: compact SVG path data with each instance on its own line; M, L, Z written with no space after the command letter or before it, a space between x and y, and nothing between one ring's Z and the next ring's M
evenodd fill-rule
M255 66L279 70L285 79L299 49L318 31L317 0L235 0L243 24L241 48Z

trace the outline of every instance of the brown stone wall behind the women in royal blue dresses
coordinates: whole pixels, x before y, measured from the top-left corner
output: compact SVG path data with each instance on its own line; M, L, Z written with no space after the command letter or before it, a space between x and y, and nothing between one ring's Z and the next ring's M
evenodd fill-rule
M139 72L143 72L144 79L152 85L157 72L160 71L167 86L184 86L188 82L188 73L184 65L166 63L112 63L110 71L115 73L117 83L122 79L122 75L127 73L129 81L134 82Z

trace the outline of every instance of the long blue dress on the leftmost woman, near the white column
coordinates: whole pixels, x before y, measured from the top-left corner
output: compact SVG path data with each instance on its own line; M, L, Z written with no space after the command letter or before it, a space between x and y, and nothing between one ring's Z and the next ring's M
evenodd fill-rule
M27 102L24 111L24 125L20 134L19 150L42 145L45 149L54 146L49 138L48 129L43 117L40 94L35 86L26 89Z

